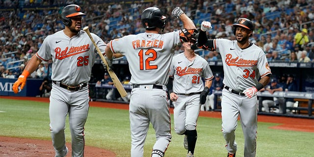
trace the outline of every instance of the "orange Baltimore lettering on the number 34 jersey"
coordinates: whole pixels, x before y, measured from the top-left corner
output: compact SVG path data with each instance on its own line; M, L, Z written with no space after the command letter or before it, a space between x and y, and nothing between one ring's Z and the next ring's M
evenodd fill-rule
M237 67L253 67L257 65L258 60L247 60L243 58L239 58L236 56L235 58L232 57L232 54L226 54L226 63L229 66L237 66Z

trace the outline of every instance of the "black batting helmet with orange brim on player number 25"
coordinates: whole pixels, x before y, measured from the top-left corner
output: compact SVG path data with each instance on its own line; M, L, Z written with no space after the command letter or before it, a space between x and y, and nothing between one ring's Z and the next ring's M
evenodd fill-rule
M65 26L71 26L72 21L70 17L78 16L78 15L86 15L80 11L81 11L80 6L76 4L70 4L70 5L65 6L61 12L62 23Z

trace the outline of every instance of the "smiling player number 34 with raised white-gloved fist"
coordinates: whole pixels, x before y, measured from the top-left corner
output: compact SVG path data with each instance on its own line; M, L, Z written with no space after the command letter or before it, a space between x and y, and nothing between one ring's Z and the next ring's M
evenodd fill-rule
M225 84L221 101L222 133L228 157L235 157L235 129L239 115L244 134L244 157L255 157L258 110L256 93L269 83L271 75L265 53L249 42L254 26L248 19L240 18L233 25L236 37L234 41L208 40L206 31L210 28L210 22L202 22L198 46L216 50L222 57Z

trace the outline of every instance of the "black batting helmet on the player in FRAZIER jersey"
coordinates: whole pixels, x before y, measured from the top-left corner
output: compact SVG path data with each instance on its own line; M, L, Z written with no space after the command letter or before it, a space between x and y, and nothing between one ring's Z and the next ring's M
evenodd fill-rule
M160 9L157 7L146 8L142 12L142 16L141 16L142 26L144 28L157 27L157 28L161 28L162 31L166 26L165 19L166 17L162 16Z

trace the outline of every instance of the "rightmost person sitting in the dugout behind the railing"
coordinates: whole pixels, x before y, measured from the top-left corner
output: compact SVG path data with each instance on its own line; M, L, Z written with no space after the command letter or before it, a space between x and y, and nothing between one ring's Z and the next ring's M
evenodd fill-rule
M291 75L291 74L288 74L287 75L287 81L286 83L284 84L283 88L285 89L285 91L298 91L297 89L297 84L294 80L294 76ZM293 98L288 98L286 99L286 107L293 107L295 101L293 100ZM279 106L279 110L280 110L280 113L283 113L283 105L280 105ZM287 109L286 111L287 113L291 113L291 110L290 109Z

